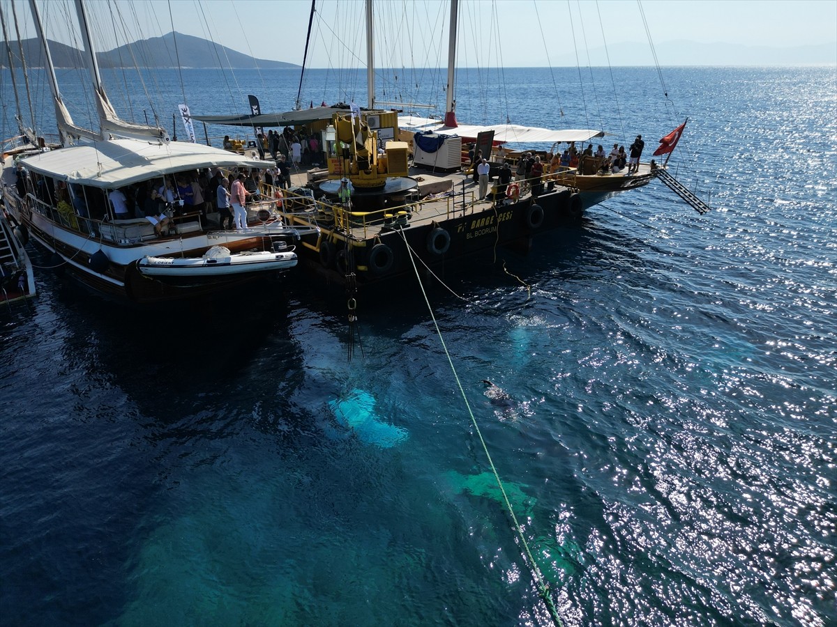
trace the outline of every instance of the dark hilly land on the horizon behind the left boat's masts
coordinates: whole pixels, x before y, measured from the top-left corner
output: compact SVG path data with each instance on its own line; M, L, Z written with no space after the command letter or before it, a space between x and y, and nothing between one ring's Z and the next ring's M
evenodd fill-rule
M177 34L177 49L175 48L175 34ZM49 53L52 54L56 68L84 67L82 54L76 48L49 41ZM12 46L15 67L20 68L18 47ZM30 68L44 67L44 53L38 39L23 41L23 54L26 64ZM298 69L299 65L284 61L270 61L254 59L247 54L236 52L218 43L213 43L192 35L182 33L168 33L162 37L142 39L134 43L127 43L108 52L97 53L102 68L177 68L177 59L182 68L223 68L223 69ZM8 67L8 57L5 48L0 50L0 65Z

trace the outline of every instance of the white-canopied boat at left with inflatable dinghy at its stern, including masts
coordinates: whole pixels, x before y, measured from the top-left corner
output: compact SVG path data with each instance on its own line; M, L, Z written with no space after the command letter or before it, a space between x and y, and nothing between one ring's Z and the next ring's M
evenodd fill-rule
M162 206L151 219L144 217L139 205L134 215L117 219L116 191L124 198L123 191L142 186L162 190L164 181L181 176L192 181L200 171L264 170L270 164L211 146L169 142L162 128L119 120L100 84L84 3L76 6L101 131L82 129L70 118L52 70L38 7L32 3L62 147L35 150L18 161L8 155L4 161L4 172L15 176L4 181L3 199L25 236L53 253L51 265L59 271L96 292L135 303L192 298L293 268L295 252L286 246L280 249L280 242L299 236L283 225L273 200L248 206L247 227L237 231L224 230L211 217L190 212L182 203L167 205L165 222L170 224L159 233L154 222L161 222L157 211ZM221 255L225 262L211 252L218 247L226 251ZM188 268L199 280L183 280L174 276L172 268L182 272Z

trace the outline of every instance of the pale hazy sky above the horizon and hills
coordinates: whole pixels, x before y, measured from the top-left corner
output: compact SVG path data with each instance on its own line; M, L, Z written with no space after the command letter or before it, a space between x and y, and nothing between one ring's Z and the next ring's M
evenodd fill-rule
M306 0L85 1L98 24L95 37L111 38L110 45L100 44L102 49L173 29L256 59L303 62L311 13ZM49 38L71 43L61 34L68 21L64 3L39 0L39 5L42 13L49 13L44 17ZM447 64L447 2L375 0L374 6L380 33L376 65ZM10 14L8 0L0 0L0 7ZM362 65L364 7L363 0L317 0L307 67ZM28 14L28 7L18 2L18 17L21 13ZM837 0L460 0L459 23L460 66L560 64L556 59L561 55L574 57L602 46L619 59L623 43L639 43L648 51L647 64L653 64L649 41L657 47L691 40L706 44L707 50L732 43L779 48L834 43ZM381 24L390 28L382 33ZM115 30L121 33L118 40L112 37ZM658 60L666 64L666 59Z

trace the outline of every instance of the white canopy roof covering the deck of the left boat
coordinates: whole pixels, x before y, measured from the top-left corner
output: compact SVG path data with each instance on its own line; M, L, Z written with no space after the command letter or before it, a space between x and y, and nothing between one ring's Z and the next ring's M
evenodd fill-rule
M259 161L203 144L108 140L42 152L22 160L28 170L59 181L115 189L175 172L212 167L269 168Z

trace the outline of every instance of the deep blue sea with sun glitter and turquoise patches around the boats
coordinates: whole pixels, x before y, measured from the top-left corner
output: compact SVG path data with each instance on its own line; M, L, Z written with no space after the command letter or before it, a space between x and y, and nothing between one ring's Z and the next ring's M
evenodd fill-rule
M654 181L353 309L301 273L126 307L30 243L39 296L0 306L0 623L837 624L837 69L465 74L463 123L650 157L688 117L670 171L711 212ZM338 79L306 106L365 104ZM300 74L116 84L182 140L183 100L289 110Z

